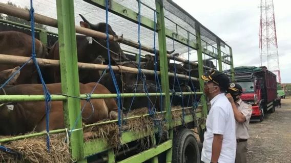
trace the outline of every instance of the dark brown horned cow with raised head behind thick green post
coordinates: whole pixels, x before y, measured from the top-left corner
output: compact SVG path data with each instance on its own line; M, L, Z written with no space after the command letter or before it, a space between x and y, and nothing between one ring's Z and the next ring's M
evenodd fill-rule
M102 33L106 32L106 23L97 23L92 24L86 20L82 15L80 15L84 21L80 21L80 26L94 31L99 31ZM115 36L115 32L112 30L111 26L108 25L108 33ZM106 39L92 38L88 36L77 35L77 56L78 62L84 63L95 63L100 64L96 61L98 56L101 56L108 62L108 50L107 50L107 41ZM120 45L117 41L109 42L110 47L110 58L111 63L114 65L116 62L127 60L126 55L123 53ZM58 41L51 47L48 59L59 60L59 44ZM54 68L53 71L47 70L47 73L50 74L51 79L47 83L58 83L60 82L60 71L59 68ZM100 75L96 70L80 70L79 72L79 82L80 83L90 83L97 82Z

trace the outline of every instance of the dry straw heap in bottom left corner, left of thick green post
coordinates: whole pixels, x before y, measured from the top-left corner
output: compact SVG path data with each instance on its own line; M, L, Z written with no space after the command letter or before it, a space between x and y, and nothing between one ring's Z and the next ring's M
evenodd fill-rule
M71 162L66 134L53 134L50 137L50 152L47 151L46 136L27 138L1 145L19 153L18 156L0 151L1 162Z

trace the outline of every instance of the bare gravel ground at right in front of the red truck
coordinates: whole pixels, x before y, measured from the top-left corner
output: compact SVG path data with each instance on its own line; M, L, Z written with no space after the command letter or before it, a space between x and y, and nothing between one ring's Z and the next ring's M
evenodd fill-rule
M291 162L291 97L281 103L262 122L251 121L248 162Z

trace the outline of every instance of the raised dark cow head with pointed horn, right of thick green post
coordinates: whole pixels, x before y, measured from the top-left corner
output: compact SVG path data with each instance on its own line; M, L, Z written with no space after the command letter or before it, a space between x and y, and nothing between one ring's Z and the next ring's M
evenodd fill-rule
M106 23L104 22L100 22L97 24L92 24L90 23L84 16L82 16L81 14L79 14L80 17L84 20L84 21L80 21L80 26L87 28L87 29L91 29L94 31L98 31L98 32L102 32L102 33L106 33ZM116 33L112 30L111 26L108 24L108 34L109 35L113 35L116 36ZM95 41L97 41L98 43L96 43ZM98 53L105 59L108 59L108 54L107 54L107 41L106 39L99 39L99 38L94 38L93 41L94 45L96 46L96 51L98 51ZM114 62L120 62L120 61L125 61L127 60L126 55L123 53L122 49L120 48L120 45L117 41L110 41L109 42L109 47L110 47L110 58L114 61Z

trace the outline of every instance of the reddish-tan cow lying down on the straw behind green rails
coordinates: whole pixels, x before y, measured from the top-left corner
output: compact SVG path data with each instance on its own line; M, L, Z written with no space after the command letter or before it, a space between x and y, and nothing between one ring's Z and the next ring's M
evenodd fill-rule
M7 73L7 72L5 72ZM0 72L1 74L1 72ZM17 77L17 76L16 76ZM80 84L80 93L90 93L95 83ZM61 84L48 84L51 94L61 93ZM98 84L94 94L108 94L108 89ZM2 95L42 95L44 94L41 84L23 84L5 86L0 89ZM91 99L93 108L87 104L82 112L85 124L95 123L102 119L116 119L117 104L114 99ZM81 106L86 100L81 100ZM93 110L94 109L94 110ZM46 129L44 101L31 102L5 102L0 104L0 134L11 135L26 133L29 131L43 131ZM88 119L87 119L88 118ZM50 107L50 130L64 128L63 102L52 101Z

